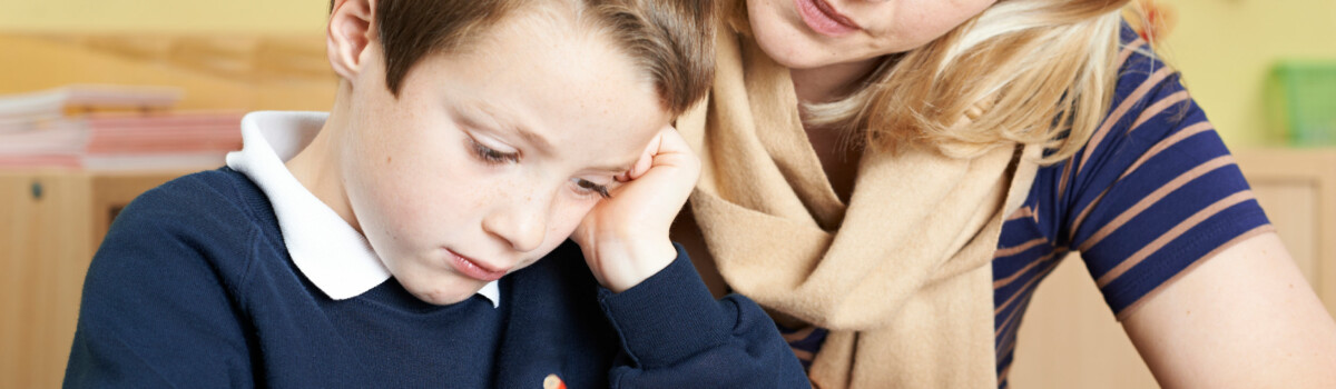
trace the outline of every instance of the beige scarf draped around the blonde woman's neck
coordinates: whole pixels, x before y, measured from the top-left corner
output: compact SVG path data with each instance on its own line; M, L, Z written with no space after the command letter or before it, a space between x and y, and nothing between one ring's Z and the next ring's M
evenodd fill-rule
M997 388L989 264L1039 148L870 149L846 206L788 69L737 35L717 51L709 100L677 129L703 161L692 212L728 285L831 330L818 388Z

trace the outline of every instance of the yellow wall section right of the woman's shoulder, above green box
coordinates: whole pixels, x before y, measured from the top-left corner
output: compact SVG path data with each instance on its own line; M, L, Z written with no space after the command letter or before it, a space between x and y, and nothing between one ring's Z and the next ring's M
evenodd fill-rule
M1280 59L1336 60L1333 0L1160 0L1178 25L1160 51L1230 147L1268 144L1264 85Z

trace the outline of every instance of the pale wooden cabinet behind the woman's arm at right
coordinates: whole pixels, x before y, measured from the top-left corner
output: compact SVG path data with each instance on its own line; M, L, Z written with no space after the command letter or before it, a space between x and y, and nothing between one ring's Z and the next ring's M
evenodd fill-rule
M1295 262L1336 312L1336 149L1234 157ZM1074 254L1039 285L1017 342L1011 388L1158 388Z

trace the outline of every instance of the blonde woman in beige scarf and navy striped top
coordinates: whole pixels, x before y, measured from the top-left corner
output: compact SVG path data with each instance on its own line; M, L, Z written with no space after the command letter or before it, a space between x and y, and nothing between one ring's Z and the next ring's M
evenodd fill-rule
M1006 386L1070 252L1161 385L1336 388L1336 324L1126 3L725 3L676 238L819 388Z

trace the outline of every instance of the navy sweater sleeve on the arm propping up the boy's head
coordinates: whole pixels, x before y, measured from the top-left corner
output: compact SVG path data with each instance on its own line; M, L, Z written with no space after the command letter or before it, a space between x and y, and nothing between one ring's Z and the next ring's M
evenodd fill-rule
M803 366L756 302L715 300L685 250L621 293L600 288L621 342L612 388L811 388Z

